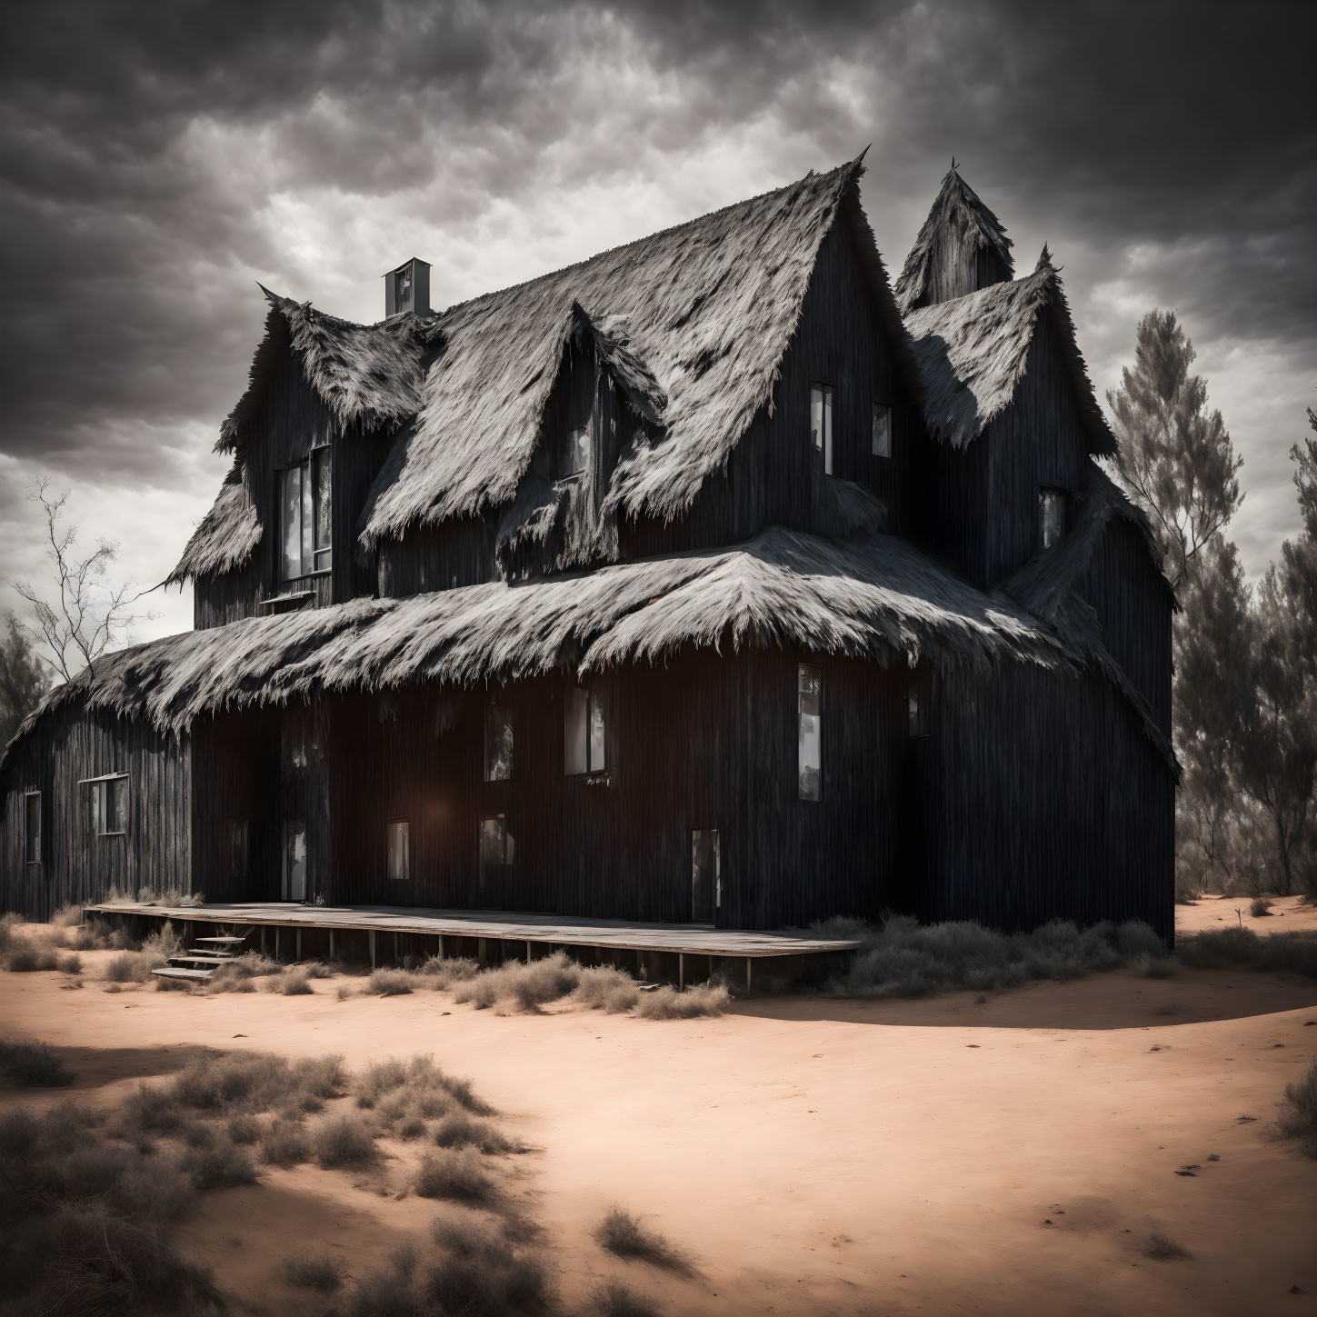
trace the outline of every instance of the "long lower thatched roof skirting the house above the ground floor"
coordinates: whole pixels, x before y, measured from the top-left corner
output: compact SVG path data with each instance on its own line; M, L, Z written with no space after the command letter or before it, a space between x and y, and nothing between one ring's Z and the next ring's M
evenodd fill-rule
M33 716L80 705L182 732L208 714L324 691L591 672L661 662L685 645L798 645L884 662L926 657L943 669L1076 665L1017 603L982 594L902 540L840 545L773 528L730 549L582 576L360 599L183 632L105 656Z

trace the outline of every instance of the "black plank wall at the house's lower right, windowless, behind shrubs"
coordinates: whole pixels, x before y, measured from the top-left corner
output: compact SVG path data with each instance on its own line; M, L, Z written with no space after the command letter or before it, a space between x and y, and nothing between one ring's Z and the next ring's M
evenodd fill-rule
M1175 782L1106 682L947 678L913 751L921 919L1144 919L1173 936Z

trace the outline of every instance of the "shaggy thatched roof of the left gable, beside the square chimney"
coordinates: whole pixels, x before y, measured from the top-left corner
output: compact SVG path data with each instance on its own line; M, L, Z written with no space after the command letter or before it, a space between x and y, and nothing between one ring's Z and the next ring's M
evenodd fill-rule
M244 428L290 350L298 353L307 382L344 428L396 429L420 410L421 371L440 336L435 316L408 311L358 325L316 311L309 302L261 291L270 303L265 337L252 361L246 392L220 427L217 452L242 446Z

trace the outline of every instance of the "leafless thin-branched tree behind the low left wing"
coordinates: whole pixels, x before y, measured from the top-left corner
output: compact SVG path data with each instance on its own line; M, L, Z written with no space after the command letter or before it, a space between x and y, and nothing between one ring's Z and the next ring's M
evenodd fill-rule
M32 606L34 624L29 630L46 648L55 672L71 681L83 669L95 669L96 660L115 640L151 614L133 612L141 593L128 582L105 579L119 552L117 544L101 540L87 557L79 557L78 527L63 524L67 491L51 497L49 481L38 481L28 498L40 503L46 515L46 557L54 569L57 598L47 602L30 583L14 582L14 590Z

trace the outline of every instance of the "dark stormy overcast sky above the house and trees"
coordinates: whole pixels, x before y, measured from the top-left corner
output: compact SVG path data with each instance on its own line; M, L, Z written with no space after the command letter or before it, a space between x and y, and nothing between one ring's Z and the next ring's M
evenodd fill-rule
M255 281L444 306L828 169L872 144L893 275L952 154L1033 267L1047 241L1100 391L1179 313L1245 457L1266 568L1317 406L1306 0L0 5L0 581L41 578L24 490L173 566L261 336ZM149 639L191 624L151 595ZM14 597L4 587L0 606Z

